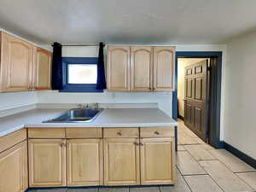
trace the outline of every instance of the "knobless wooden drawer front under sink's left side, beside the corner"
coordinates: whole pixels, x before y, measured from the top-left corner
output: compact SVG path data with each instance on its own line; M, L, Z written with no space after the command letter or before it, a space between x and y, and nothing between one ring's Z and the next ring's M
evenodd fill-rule
M28 128L29 138L65 138L64 128Z

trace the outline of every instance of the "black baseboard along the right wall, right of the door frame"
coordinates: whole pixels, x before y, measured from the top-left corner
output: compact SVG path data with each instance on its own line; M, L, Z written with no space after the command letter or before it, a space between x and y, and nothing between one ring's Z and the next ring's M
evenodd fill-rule
M244 154L237 148L234 148L229 143L224 143L224 148L229 151L231 154L234 154L236 157L238 157L240 160L243 160L246 162L249 166L253 166L253 168L256 169L256 160L254 160L252 157L248 156L247 154Z

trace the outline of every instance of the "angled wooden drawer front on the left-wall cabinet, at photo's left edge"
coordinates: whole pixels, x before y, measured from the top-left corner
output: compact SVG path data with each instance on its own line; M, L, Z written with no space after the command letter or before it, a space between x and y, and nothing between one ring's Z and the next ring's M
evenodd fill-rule
M26 129L15 131L9 135L0 137L0 153L24 140L26 140Z

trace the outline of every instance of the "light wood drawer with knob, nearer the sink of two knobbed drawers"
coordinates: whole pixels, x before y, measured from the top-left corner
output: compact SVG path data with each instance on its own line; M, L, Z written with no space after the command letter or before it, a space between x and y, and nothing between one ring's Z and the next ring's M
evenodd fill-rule
M138 128L104 128L105 138L137 138L139 137Z

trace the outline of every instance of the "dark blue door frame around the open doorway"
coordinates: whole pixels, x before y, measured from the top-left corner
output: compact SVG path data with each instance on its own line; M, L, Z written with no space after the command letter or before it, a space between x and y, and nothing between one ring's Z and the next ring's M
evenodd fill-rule
M222 51L177 51L175 57L175 91L172 92L172 119L177 120L177 58L212 58L217 57L218 63L216 70L212 70L213 75L216 77L215 86L212 90L212 101L216 103L214 113L212 113L211 126L212 131L212 145L215 148L223 148L220 141L220 106L221 106L221 78L222 78ZM177 130L177 128L176 128ZM177 131L176 131L177 132ZM176 133L177 138L177 133ZM176 141L177 143L177 141Z

